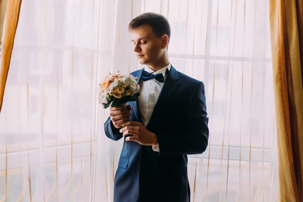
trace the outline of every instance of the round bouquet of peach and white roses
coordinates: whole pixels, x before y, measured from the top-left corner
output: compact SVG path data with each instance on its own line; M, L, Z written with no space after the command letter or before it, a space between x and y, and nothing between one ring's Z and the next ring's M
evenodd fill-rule
M137 77L131 74L109 74L105 77L98 93L98 102L104 109L108 107L117 107L127 102L135 101L140 95L140 86L137 84Z

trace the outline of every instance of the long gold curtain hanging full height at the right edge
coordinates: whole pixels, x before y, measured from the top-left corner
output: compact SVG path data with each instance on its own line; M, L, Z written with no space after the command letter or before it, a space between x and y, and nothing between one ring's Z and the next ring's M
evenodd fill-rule
M270 0L280 201L303 201L303 0Z

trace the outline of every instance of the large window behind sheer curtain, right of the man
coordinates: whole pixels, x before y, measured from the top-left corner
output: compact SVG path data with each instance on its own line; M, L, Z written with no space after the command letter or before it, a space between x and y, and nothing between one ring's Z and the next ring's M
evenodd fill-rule
M141 13L151 10L153 1L143 2ZM209 147L188 163L195 201L270 200L277 165L268 2L163 1L161 8L172 29L170 62L206 86Z

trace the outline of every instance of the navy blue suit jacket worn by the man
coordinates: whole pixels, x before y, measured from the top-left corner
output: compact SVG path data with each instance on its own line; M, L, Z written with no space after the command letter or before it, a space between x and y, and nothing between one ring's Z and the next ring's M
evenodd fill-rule
M131 73L138 77L138 83L142 71ZM132 107L131 121L141 122L138 103L128 105ZM110 118L104 127L109 138L123 137ZM203 153L209 137L203 82L171 67L146 129L156 134L160 153L151 146L124 139L114 201L189 201L187 155Z

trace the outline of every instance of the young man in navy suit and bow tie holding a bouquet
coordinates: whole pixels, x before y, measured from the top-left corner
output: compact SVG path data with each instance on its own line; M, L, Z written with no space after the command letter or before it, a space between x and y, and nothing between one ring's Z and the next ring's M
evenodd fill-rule
M129 24L134 52L143 69L140 96L127 107L110 109L106 135L124 144L115 175L115 202L187 202L187 155L208 145L205 88L168 59L167 19L145 13Z

